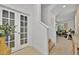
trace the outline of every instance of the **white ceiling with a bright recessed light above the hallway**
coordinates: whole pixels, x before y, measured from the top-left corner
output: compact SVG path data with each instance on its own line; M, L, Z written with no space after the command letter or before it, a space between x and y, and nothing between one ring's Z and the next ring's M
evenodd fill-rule
M43 8L50 8L51 13L56 16L56 21L72 20L75 17L75 12L78 7L77 4L45 4Z

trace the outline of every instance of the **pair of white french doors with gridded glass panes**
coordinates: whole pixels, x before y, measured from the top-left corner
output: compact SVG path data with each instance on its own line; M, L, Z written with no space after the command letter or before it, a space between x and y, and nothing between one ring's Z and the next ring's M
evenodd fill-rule
M6 44L15 52L28 45L27 40L27 16L8 8L0 7L0 24L15 26L15 33L10 39L6 39Z

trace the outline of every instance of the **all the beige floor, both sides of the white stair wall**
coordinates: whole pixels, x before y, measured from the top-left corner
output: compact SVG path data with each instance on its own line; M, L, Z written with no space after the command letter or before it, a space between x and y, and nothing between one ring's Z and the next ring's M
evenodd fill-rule
M41 55L41 53L33 47L26 47L12 55ZM56 47L52 49L50 55L73 55L72 40L57 37Z

